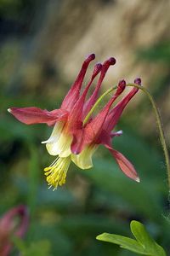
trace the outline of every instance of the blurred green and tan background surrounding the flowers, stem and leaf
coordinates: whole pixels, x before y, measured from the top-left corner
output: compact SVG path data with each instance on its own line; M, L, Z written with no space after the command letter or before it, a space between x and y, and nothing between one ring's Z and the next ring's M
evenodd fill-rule
M0 0L0 214L28 207L27 255L135 255L95 240L105 231L130 236L132 219L170 250L166 166L142 91L123 113L117 125L123 135L114 140L141 183L125 177L101 147L93 169L72 165L65 186L53 192L43 176L53 158L41 144L51 128L21 124L7 113L10 107L59 108L84 56L115 56L103 90L141 77L155 96L169 146L169 12L166 0ZM16 248L11 255L18 255Z

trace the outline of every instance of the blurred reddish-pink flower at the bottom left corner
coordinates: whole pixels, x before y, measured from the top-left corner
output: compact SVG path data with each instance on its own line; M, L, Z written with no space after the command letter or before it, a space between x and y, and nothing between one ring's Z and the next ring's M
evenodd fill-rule
M0 219L1 256L8 256L13 247L10 236L23 237L27 226L28 212L25 206L14 207L3 215L3 218Z

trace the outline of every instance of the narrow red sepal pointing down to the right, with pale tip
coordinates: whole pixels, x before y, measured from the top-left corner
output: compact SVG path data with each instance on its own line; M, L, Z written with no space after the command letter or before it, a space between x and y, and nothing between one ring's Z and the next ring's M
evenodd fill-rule
M113 157L116 159L116 162L122 172L124 172L127 177L132 178L133 180L139 182L139 177L137 172L134 169L133 164L127 158L120 152L116 151L115 149L111 148L110 145L105 144L105 147L108 148L113 155Z

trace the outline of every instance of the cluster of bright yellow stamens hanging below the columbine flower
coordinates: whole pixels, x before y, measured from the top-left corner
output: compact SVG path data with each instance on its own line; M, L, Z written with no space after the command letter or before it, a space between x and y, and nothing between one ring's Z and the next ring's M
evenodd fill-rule
M71 156L58 157L50 166L44 169L49 188L53 186L54 189L57 189L58 185L62 186L65 183L66 173L70 164Z

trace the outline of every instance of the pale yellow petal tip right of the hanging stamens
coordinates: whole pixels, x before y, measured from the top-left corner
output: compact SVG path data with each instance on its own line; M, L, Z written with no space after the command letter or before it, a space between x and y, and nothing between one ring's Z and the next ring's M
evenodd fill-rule
M71 154L71 160L81 169L89 169L94 166L92 156L96 149L96 146L88 146L80 154Z

